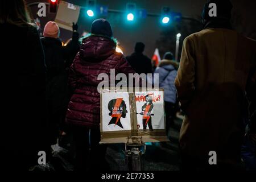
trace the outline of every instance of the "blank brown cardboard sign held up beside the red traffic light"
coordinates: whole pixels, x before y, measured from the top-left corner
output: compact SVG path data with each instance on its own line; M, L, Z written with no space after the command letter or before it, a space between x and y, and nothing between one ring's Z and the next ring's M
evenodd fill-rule
M55 22L59 27L72 31L72 23L77 23L80 14L80 6L60 1Z

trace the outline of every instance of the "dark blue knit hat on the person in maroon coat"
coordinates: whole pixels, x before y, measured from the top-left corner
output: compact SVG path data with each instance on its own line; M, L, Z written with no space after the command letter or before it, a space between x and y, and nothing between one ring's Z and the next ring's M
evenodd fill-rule
M112 27L111 27L109 21L106 19L94 20L94 22L92 23L91 30L92 30L91 31L92 34L104 35L104 36L108 36L109 38L113 37Z

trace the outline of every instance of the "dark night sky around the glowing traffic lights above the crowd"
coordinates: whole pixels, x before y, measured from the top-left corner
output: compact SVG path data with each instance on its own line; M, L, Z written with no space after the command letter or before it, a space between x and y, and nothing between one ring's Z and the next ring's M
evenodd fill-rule
M27 0L28 3L36 2L35 0ZM47 1L41 1L47 2ZM81 0L67 0L75 5L85 6L86 1ZM197 18L201 14L205 0L98 0L97 3L101 5L108 5L109 9L125 10L127 2L134 2L137 4L137 8L147 9L148 13L160 14L163 6L169 6L171 11L182 13L184 16L191 16ZM240 31L246 35L246 27L256 27L256 1L255 0L233 0L234 10L239 12L242 16L242 22L240 24ZM36 9L33 8L33 15ZM114 31L114 37L118 39L125 55L129 55L133 52L135 42L144 42L146 44L145 54L149 57L152 56L155 50L156 40L159 39L160 31L163 30L163 26L160 24L159 18L147 17L146 19L138 20L134 24L127 24L126 19L121 14L109 13L106 18L110 21ZM46 18L41 18L42 25L48 20L54 20L55 15L48 15ZM95 18L94 18L95 19ZM84 13L80 13L79 18L79 31L90 30L90 24L94 19L88 19ZM250 25L250 26L249 26ZM248 28L247 28L248 29ZM255 30L255 29L254 29ZM247 30L248 31L248 30ZM251 31L251 30L250 30ZM256 30L255 30L256 31ZM61 29L61 38L67 40L71 38L71 32Z

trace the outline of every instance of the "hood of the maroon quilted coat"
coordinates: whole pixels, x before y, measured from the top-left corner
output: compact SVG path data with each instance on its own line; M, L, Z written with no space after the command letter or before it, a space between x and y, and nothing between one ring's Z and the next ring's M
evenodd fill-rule
M116 47L114 39L91 35L82 40L80 57L88 62L100 62L113 55Z

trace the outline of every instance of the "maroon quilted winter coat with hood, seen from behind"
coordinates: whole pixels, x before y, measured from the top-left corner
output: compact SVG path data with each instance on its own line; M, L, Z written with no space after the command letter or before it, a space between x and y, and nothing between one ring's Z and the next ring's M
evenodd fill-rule
M89 36L82 42L69 75L73 96L68 105L66 121L72 125L100 126L100 93L97 80L100 73L110 78L110 69L115 74L134 73L122 53L115 52L114 40L101 36Z

